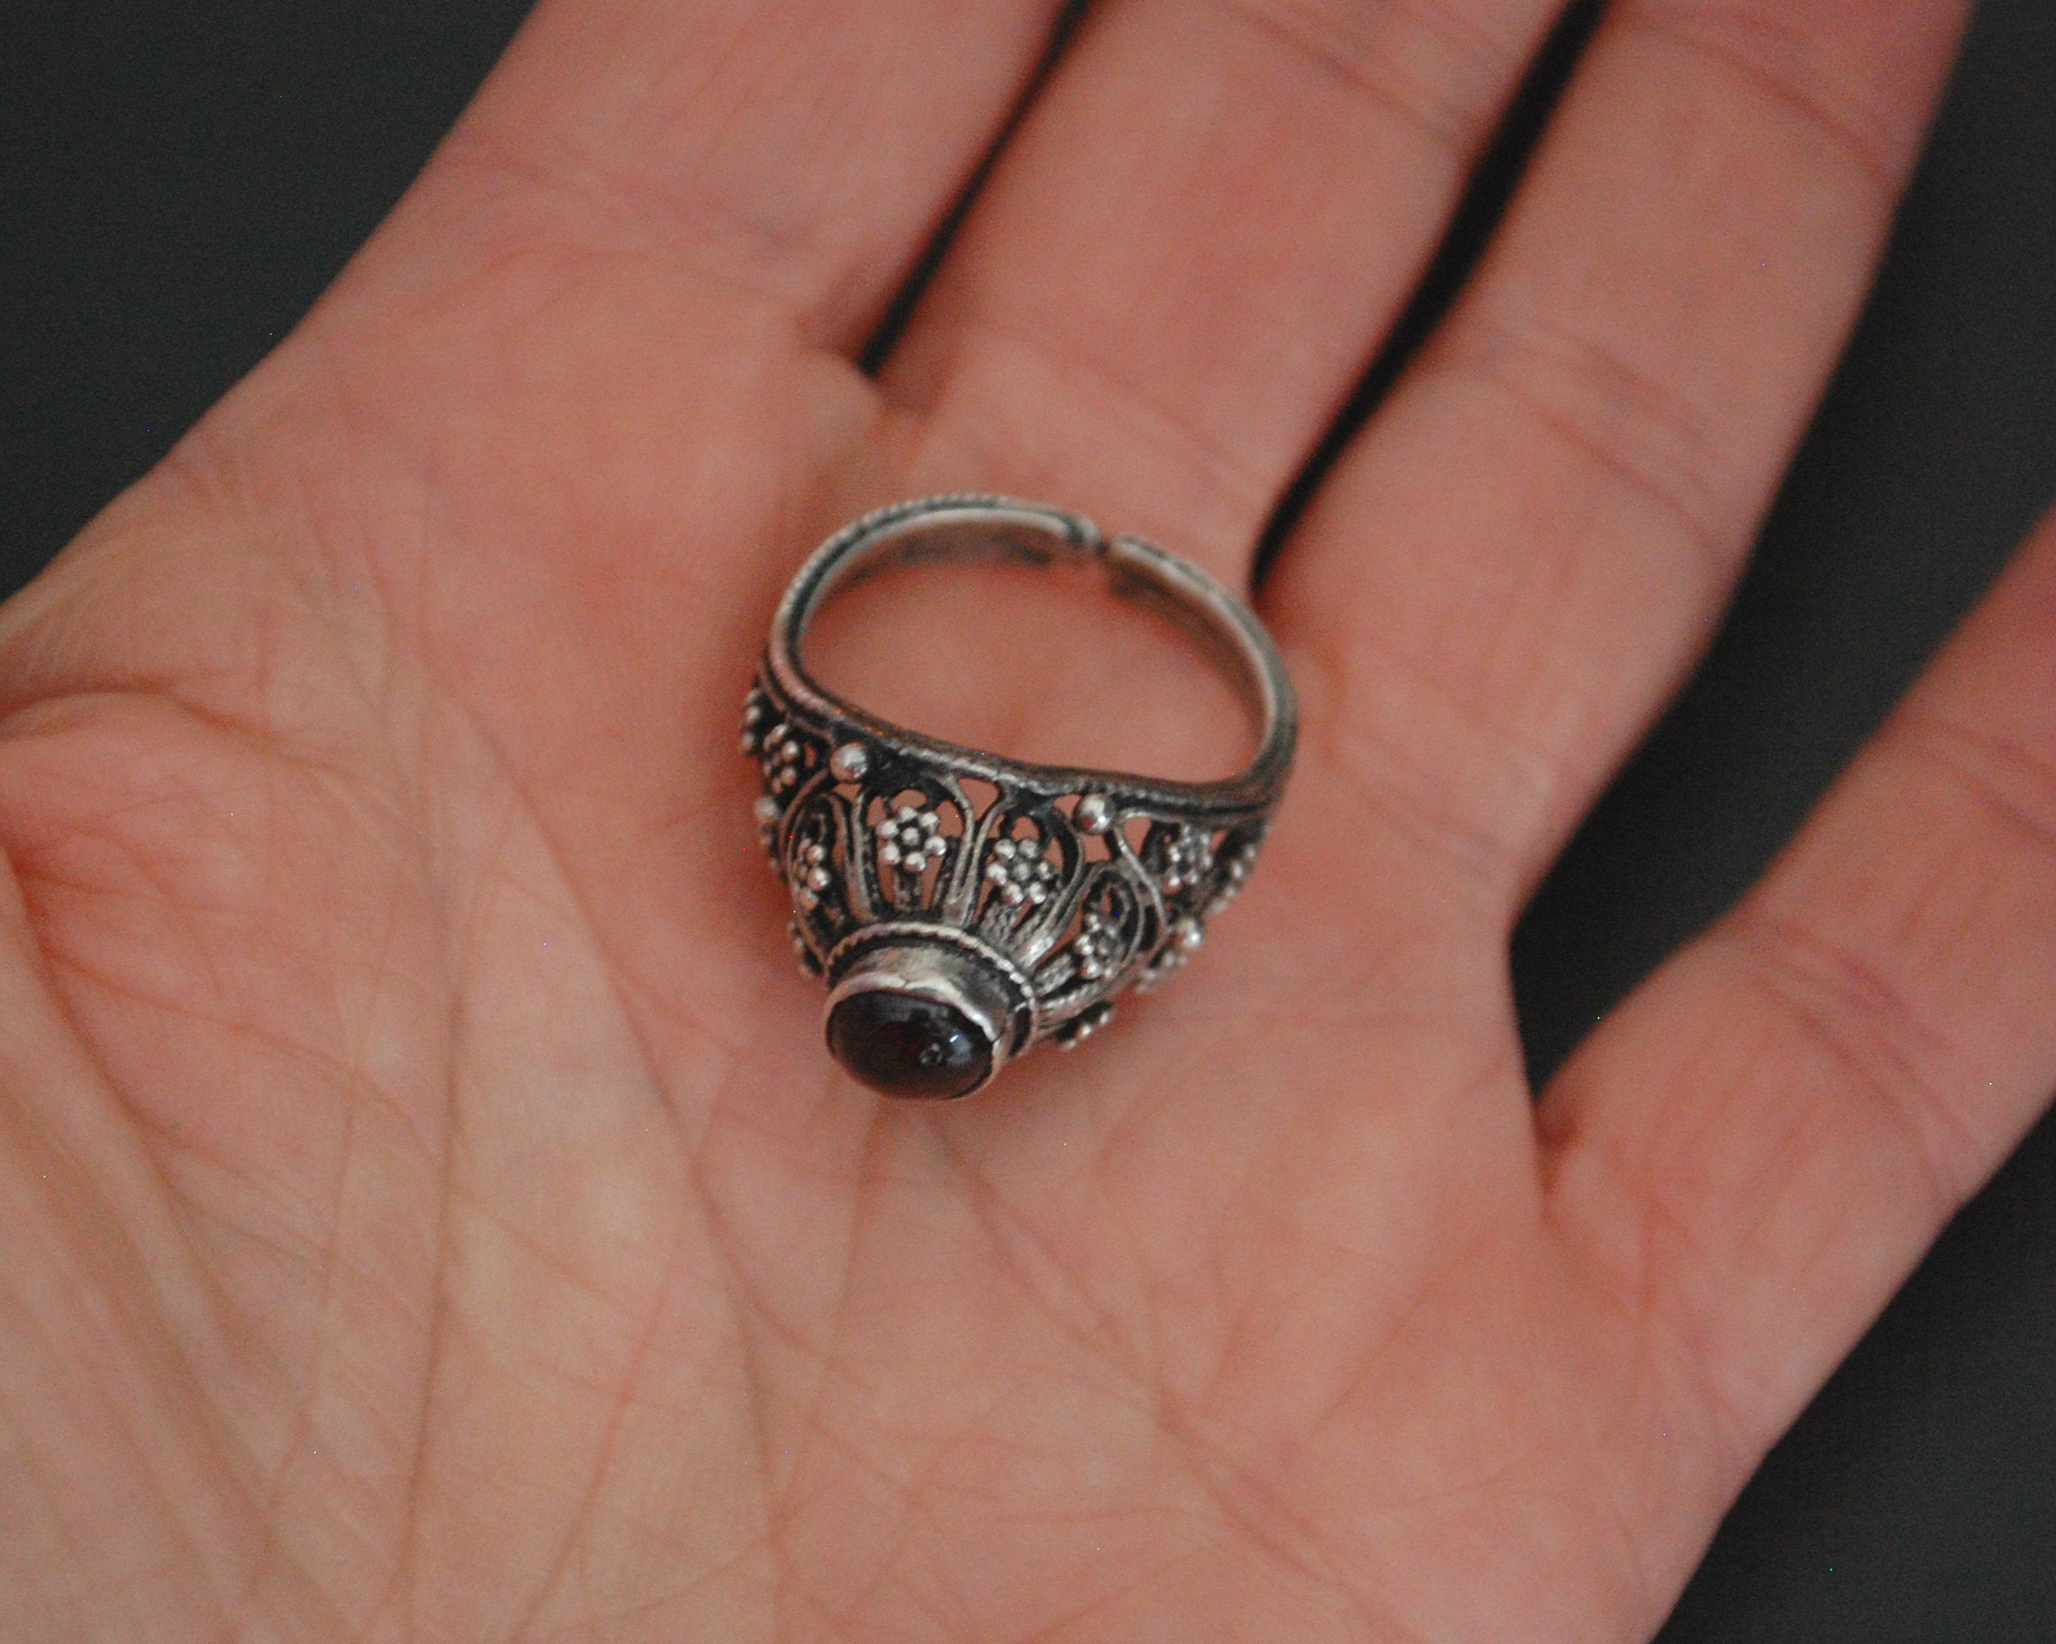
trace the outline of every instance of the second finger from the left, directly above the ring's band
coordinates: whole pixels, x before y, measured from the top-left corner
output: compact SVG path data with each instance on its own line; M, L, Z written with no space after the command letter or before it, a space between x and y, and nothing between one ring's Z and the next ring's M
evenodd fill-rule
M888 364L909 491L997 485L1240 580L1554 0L1127 0Z

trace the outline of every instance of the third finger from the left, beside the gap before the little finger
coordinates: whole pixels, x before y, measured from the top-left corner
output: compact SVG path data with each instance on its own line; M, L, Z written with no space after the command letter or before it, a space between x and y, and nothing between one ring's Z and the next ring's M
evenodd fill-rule
M1310 742L1511 919L1704 643L1842 345L1957 0L1624 0L1271 608Z

